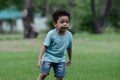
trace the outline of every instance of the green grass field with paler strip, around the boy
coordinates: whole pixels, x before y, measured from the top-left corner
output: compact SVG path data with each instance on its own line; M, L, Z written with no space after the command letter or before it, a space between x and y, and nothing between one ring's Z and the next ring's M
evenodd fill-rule
M0 35L0 80L36 80L38 54L45 34L37 39ZM73 60L64 80L120 80L120 35L75 34ZM55 80L53 71L46 80Z

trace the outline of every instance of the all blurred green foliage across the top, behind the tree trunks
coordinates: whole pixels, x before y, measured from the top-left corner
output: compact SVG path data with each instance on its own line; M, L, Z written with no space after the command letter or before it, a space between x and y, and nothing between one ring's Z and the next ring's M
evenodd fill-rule
M18 9L24 8L25 0L0 0L0 9L4 9L11 5L16 5ZM72 5L69 1L72 1ZM91 13L91 0L33 0L35 11L38 11L42 16L51 16L54 10L62 8L66 9L71 14L71 30L76 32L87 31L93 32L92 13ZM101 8L102 1L95 0L97 17L101 20ZM74 5L73 5L74 4ZM120 0L112 0L112 8L109 15L109 19L106 26L111 25L111 28L115 28L115 31L120 32ZM48 21L49 26L51 24L51 18ZM53 26L52 26L53 27Z

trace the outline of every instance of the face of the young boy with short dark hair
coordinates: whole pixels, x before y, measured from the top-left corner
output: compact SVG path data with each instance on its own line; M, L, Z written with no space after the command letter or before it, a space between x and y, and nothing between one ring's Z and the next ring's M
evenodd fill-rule
M57 22L54 22L54 26L62 32L65 32L69 26L69 18L68 16L60 16Z

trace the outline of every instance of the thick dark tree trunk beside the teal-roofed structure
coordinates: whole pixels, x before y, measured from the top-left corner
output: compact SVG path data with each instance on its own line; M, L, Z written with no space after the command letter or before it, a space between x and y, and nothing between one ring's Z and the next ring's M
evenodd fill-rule
M37 38L38 33L34 31L33 17L34 7L32 0L25 0L25 9L23 12L23 24L24 24L24 38Z

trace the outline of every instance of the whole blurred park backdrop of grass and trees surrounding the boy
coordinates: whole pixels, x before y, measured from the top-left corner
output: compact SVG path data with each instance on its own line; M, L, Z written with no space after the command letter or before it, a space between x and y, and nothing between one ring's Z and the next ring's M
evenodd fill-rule
M71 15L73 59L65 80L120 80L119 8L120 0L0 0L0 80L37 79L57 9Z

